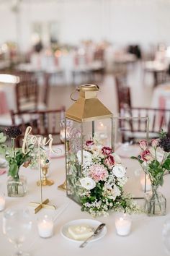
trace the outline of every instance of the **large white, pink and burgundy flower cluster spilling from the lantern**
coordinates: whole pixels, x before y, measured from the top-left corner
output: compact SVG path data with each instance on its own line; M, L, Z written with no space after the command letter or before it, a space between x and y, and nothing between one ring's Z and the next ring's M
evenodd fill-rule
M72 174L69 182L72 194L79 197L81 210L92 216L108 215L109 210L139 212L130 195L124 195L123 186L128 181L120 157L112 148L104 147L96 139L86 141L81 168L81 150L71 155ZM76 175L81 173L81 175Z

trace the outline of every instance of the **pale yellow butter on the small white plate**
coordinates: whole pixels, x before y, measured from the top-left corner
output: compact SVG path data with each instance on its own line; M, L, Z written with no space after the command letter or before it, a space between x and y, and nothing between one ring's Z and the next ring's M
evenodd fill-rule
M94 234L94 231L91 226L79 225L69 226L68 233L73 237L73 239L82 241Z

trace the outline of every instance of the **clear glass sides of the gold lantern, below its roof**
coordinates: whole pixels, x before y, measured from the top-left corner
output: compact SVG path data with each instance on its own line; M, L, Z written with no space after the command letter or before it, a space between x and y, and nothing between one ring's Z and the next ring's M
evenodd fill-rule
M68 122L69 119L66 119ZM112 118L92 121L72 121L69 135L66 133L66 179L67 195L81 204L81 195L77 192L80 187L78 180L83 177L83 166L86 161L84 150L86 142L94 137L102 146L112 148ZM88 154L88 153L87 153Z

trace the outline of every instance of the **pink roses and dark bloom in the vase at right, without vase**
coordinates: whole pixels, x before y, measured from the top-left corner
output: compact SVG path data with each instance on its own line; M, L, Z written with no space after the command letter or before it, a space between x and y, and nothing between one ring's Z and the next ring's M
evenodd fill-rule
M146 140L140 140L139 145L141 154L131 158L138 160L152 186L162 186L164 175L170 172L170 137L161 131L158 139L151 140L151 147Z

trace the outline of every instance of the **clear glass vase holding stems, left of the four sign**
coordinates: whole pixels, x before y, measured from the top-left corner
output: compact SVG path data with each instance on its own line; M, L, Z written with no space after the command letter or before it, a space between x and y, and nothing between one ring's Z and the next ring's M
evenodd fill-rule
M7 180L7 193L9 197L23 197L27 192L27 179L25 176L14 178L9 176Z

